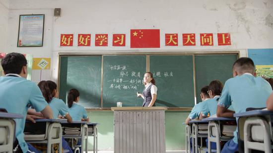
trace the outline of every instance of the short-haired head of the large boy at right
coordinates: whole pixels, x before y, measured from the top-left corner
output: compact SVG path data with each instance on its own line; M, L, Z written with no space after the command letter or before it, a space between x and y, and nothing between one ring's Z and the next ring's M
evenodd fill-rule
M251 73L252 75L255 74L255 65L251 58L248 57L241 57L237 59L233 66L233 77L237 75L243 75L244 73Z

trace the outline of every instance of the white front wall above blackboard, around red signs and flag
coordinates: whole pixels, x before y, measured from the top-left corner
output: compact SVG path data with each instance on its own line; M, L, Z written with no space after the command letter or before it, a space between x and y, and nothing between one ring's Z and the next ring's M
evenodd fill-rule
M58 7L62 16L54 17ZM10 0L9 8L7 50L51 57L45 79L57 79L58 52L64 51L240 50L246 56L249 48L273 48L273 0ZM17 48L19 15L32 13L45 14L44 47ZM160 29L161 48L130 49L130 29ZM74 34L73 47L60 47L62 33ZM77 47L78 33L91 33L91 47ZM108 47L94 46L100 33L108 34ZM115 33L126 34L126 47L111 47ZM165 47L165 33L178 33L179 46ZM183 33L196 33L197 46L182 46ZM214 46L200 46L200 33L213 33ZM232 45L217 46L216 33L230 33Z

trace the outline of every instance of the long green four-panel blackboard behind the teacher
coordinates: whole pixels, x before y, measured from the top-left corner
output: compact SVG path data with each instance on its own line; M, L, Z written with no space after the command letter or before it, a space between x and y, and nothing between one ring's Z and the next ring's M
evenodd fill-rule
M200 90L211 80L224 82L232 77L232 65L238 54L190 55L61 55L59 97L67 102L67 92L76 88L80 104L87 108L141 106L143 75L153 73L157 86L157 106L193 107ZM147 63L148 61L148 63ZM195 79L194 79L195 78ZM194 84L196 81L196 86Z

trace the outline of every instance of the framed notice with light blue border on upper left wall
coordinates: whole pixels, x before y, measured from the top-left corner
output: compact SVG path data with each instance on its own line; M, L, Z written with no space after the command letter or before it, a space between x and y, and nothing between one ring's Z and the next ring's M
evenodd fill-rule
M45 14L20 15L17 47L42 47Z

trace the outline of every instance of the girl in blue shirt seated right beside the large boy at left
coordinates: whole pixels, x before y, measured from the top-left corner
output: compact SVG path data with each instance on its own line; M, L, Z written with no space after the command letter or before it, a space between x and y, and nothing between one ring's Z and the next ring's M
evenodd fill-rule
M53 111L53 118L58 118L59 114L61 114L68 119L68 123L71 123L72 118L68 113L68 106L63 100L58 99L57 84L49 80L39 82L38 86L42 91L46 102L48 102ZM65 153L72 153L72 150L64 137L62 138L62 146Z

